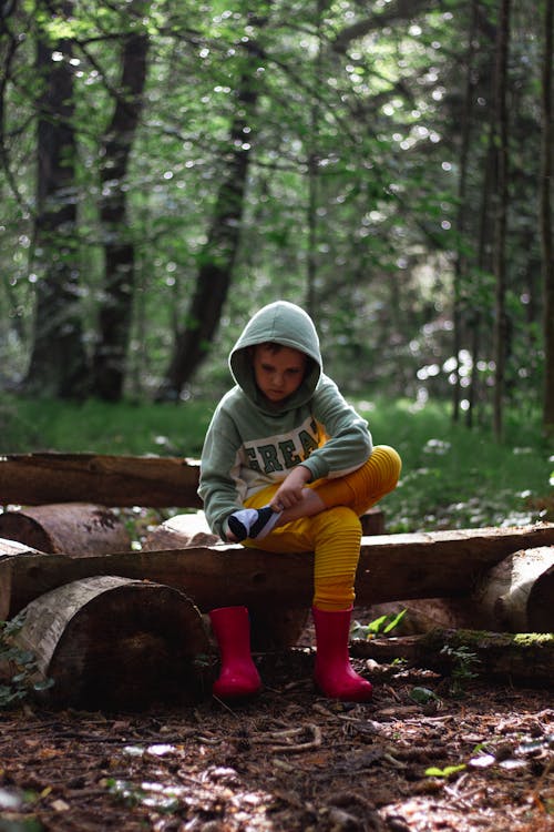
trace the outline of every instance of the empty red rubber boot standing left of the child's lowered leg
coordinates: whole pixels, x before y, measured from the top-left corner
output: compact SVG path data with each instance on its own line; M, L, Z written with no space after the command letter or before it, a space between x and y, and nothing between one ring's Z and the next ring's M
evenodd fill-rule
M209 613L222 657L219 678L213 692L219 699L237 699L257 693L259 673L250 655L250 619L246 607L219 607Z

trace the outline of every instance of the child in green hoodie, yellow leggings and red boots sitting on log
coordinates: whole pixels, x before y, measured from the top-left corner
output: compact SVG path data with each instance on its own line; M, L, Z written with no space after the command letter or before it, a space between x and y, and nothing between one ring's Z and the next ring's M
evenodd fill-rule
M299 306L259 310L229 356L236 386L209 425L198 494L223 540L275 552L315 552L315 680L328 697L363 702L371 683L348 655L361 524L391 491L401 461L372 447L367 423L322 373L319 339ZM222 653L214 693L256 693L246 607L209 613Z

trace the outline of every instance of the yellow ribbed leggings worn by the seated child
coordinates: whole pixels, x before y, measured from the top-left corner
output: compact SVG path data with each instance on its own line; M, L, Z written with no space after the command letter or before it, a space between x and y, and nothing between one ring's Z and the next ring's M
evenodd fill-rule
M326 506L322 511L279 526L263 540L245 540L244 546L275 552L315 552L314 606L321 610L349 609L360 557L359 517L396 488L401 467L394 448L378 445L368 461L351 474L307 486L321 498ZM278 487L257 491L245 506L266 506Z

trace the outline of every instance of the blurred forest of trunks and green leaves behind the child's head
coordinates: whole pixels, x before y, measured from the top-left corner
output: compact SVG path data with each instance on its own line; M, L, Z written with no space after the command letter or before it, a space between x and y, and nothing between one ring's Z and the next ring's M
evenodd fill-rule
M552 434L552 0L2 14L4 392L216 397L285 298L346 392Z

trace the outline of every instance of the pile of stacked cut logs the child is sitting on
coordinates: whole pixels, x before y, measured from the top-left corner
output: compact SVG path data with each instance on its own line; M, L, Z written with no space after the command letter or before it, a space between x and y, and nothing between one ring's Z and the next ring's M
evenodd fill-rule
M195 508L197 476L189 460L152 457L0 460L0 505L25 506L0 514L0 619L23 613L17 638L54 680L50 701L140 704L177 692L193 700L206 683L198 657L211 650L203 613L218 606L248 606L256 649L296 642L311 602L312 555L222 544L189 510L131 549L110 507ZM362 538L359 605L441 599L454 626L554 630L554 525L384 535L379 510L363 524L381 534ZM538 678L552 680L552 638L542 645ZM529 662L527 670L532 678Z

